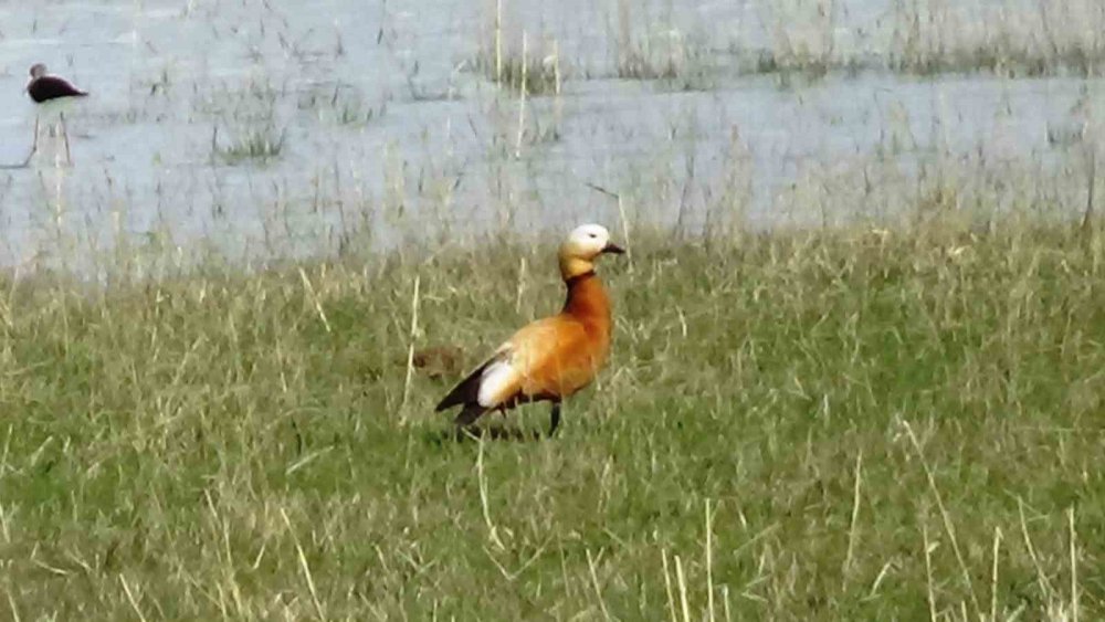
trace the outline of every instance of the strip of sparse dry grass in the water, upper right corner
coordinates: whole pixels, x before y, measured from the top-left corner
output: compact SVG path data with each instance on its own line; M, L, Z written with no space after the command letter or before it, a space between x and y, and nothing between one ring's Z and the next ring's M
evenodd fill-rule
M888 20L846 29L838 3L766 6L771 44L730 43L736 75L821 78L830 73L891 72L917 76L986 73L1004 77L1101 76L1105 11L1097 3L1036 0L971 12L939 0L894 2ZM1065 28L1064 24L1081 24Z

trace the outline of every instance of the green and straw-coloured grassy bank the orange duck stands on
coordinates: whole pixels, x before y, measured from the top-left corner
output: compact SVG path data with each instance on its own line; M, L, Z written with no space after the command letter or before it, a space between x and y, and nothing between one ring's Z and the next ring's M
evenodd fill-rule
M560 303L547 246L8 278L0 609L1038 620L1074 584L1105 615L1099 241L634 242L602 266L611 365L538 442L450 440L455 378L401 361L415 278L415 345L478 358Z

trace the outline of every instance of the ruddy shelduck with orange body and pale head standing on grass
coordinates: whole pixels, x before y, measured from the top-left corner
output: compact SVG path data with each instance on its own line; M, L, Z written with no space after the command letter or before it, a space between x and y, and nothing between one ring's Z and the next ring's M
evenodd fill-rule
M603 253L624 253L598 224L576 228L560 246L564 309L514 334L492 357L441 400L438 412L463 405L453 421L469 426L480 415L505 413L524 402L552 402L549 435L560 424L560 402L594 380L610 355L610 297L594 274Z

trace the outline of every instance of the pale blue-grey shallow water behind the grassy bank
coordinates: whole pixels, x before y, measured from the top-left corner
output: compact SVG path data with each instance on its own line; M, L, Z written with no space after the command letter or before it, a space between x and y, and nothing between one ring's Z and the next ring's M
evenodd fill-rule
M804 0L651 1L623 15L617 2L503 6L508 52L520 53L523 30L537 57L556 42L559 97L523 107L473 71L493 41L486 1L0 8L0 263L80 267L124 242L167 244L186 261L201 247L301 256L504 224L619 226L622 213L688 228L727 211L753 226L822 221L833 180L1062 160L1105 89L1076 77L740 74L730 52L777 44L781 23L817 43L829 22ZM894 6L833 4L836 44L883 45ZM987 9L959 9L961 23ZM663 57L693 51L691 88L619 78L627 40ZM56 141L15 166L40 112L21 91L34 62L94 94L66 113L73 166L55 166ZM251 135L283 137L280 154L225 157ZM827 194L808 201L802 185ZM893 194L855 210L890 209Z

